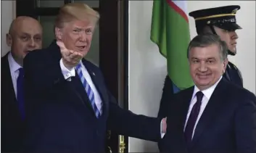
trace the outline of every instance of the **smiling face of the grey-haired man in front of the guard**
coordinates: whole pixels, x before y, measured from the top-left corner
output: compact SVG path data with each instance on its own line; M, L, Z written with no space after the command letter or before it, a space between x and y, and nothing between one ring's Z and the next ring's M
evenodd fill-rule
M227 59L220 58L218 44L205 47L192 47L189 51L191 77L200 90L214 85L226 70Z

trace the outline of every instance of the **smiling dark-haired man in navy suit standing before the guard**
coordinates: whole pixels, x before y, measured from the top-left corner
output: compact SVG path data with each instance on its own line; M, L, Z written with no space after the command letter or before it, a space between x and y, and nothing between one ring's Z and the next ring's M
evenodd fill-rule
M162 152L256 152L256 97L223 78L227 55L217 35L192 39L188 58L195 86L170 99Z

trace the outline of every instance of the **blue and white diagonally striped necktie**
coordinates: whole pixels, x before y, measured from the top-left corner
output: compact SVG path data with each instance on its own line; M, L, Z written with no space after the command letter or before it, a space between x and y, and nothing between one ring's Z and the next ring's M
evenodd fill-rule
M96 117L99 118L100 112L99 112L99 109L96 107L96 104L95 104L94 92L91 90L91 86L90 86L90 85L88 84L88 82L86 81L86 78L83 77L81 63L79 63L79 64L76 66L76 70L77 70L77 73L78 73L78 75L79 75L79 78L80 78L81 82L83 83L83 87L84 87L85 90L86 90L86 94L88 95L88 99L89 99L90 102L91 102L91 106L92 106L92 108L94 109L94 112L95 112L95 114L96 114Z

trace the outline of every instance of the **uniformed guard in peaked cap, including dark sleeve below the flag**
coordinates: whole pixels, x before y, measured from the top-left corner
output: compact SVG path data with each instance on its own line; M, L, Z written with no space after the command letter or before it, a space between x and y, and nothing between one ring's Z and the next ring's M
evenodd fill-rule
M236 30L241 27L236 23L236 11L239 6L214 7L210 9L200 9L190 12L189 15L194 17L196 22L197 34L212 33L220 36L222 41L228 45L228 55L236 55L236 40L238 38ZM237 86L243 87L243 79L240 70L232 62L228 62L226 72L223 74L226 80ZM173 94L180 91L167 75L164 87L162 89L162 98L160 100L160 109L157 117L166 117L166 106Z

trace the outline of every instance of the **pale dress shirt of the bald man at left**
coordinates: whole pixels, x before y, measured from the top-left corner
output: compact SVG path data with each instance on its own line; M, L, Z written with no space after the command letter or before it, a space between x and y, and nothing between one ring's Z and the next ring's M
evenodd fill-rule
M12 76L12 85L13 88L15 89L15 95L17 98L17 78L20 74L20 65L15 61L15 59L12 57L11 52L8 54L8 62L9 62L9 70Z

